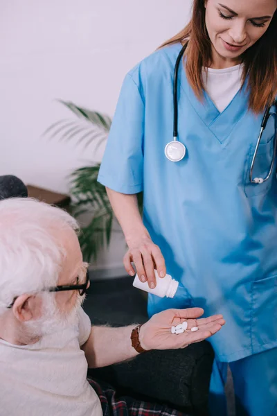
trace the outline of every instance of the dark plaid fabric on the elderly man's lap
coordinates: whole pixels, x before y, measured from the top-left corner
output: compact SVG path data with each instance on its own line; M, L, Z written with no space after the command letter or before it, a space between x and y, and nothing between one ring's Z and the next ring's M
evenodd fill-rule
M88 381L100 399L103 416L191 416L163 404L146 403L132 397L116 397L110 385L100 386L96 381Z

